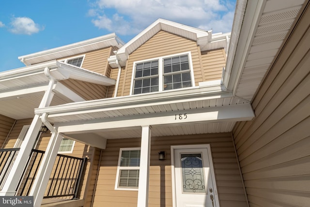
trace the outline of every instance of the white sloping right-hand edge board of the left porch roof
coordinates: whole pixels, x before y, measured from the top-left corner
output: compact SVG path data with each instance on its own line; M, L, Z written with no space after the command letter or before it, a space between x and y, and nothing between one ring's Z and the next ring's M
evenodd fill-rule
M67 64L67 63L59 63L59 71L61 71L63 74L67 74L67 78L72 78L76 80L82 80L86 82L92 82L100 85L115 85L116 80L110 79L107 76L104 76L102 74L86 70L84 68Z

